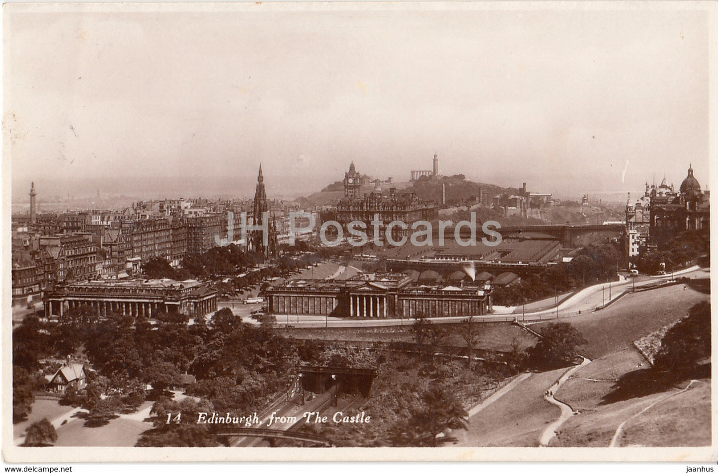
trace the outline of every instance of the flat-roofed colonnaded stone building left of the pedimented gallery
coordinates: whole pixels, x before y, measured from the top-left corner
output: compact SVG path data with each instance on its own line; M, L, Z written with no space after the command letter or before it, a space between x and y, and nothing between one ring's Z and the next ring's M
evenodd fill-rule
M85 304L101 317L115 313L151 318L162 312L203 317L217 310L217 291L197 281L172 279L101 279L58 284L47 294L45 317L62 319L68 310Z

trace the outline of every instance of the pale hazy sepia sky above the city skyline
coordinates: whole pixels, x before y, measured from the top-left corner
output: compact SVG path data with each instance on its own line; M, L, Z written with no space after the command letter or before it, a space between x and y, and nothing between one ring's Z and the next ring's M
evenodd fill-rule
M407 180L434 152L535 191L678 185L689 162L708 182L704 12L267 5L6 8L14 190L236 177L243 195L261 161L309 193L351 160Z

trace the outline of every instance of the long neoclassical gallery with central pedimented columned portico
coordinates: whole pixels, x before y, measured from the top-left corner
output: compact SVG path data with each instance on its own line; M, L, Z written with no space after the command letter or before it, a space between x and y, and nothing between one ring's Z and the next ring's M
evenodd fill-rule
M266 289L270 314L333 317L472 317L488 313L486 286L416 286L402 273L355 276L347 281L295 280Z

